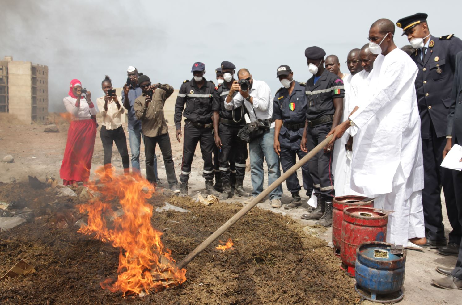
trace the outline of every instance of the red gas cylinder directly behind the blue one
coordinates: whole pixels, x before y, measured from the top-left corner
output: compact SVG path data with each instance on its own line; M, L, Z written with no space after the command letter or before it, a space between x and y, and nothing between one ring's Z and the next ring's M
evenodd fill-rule
M342 269L354 277L356 248L366 241L386 241L388 215L369 207L343 209L340 246Z

